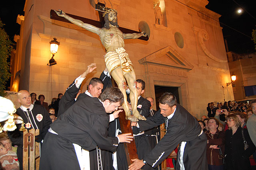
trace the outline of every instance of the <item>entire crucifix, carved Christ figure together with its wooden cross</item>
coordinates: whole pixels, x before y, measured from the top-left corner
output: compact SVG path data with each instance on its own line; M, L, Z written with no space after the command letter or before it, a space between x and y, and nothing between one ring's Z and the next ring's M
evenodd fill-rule
M146 120L146 118L141 116L137 111L138 94L136 75L132 62L128 54L125 53L124 39L141 39L147 41L148 36L144 32L140 33L119 27L116 10L99 5L96 5L96 10L99 11L100 22L72 14L65 14L62 10L51 10L50 15L51 19L75 24L100 36L100 40L106 49L106 55L104 56L106 67L116 81L118 88L124 94L125 102L122 104L124 111L119 114L121 130L122 133L132 133L130 121L138 121L138 119ZM104 13L104 20L101 15L102 12ZM132 113L130 112L129 104L126 102L126 81L130 88ZM126 121L125 119L130 121ZM130 144L125 144L125 151L128 164L131 164L131 159L138 158L134 140Z

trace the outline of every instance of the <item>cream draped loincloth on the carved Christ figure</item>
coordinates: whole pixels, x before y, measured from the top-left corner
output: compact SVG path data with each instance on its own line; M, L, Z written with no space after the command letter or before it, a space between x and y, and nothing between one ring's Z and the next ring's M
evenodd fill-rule
M119 47L116 51L108 51L104 56L106 67L111 74L116 67L121 66L123 74L131 72L132 61L129 59L128 53L125 53L123 47Z

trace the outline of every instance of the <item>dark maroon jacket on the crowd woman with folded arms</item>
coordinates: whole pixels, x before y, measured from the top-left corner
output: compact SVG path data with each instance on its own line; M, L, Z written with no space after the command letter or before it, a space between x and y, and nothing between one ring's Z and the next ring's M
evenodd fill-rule
M210 145L218 145L224 156L225 151L225 132L219 131L217 129L216 133L211 134L210 130L205 132L208 139L208 144L206 145L206 157L209 165L223 165L222 156L220 156L219 149L210 148Z

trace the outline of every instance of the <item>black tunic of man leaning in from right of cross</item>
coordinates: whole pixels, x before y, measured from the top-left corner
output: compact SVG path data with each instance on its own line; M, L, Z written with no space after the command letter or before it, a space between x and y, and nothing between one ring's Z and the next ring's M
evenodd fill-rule
M148 117L146 121L139 121L140 130L144 131L152 127L161 125L165 119L160 110L153 117ZM167 132L158 142L156 147L143 158L154 168L161 164L167 156L182 141L186 141L183 162L187 170L207 170L206 143L207 138L201 133L202 128L198 121L177 103L176 111L168 121ZM198 136L199 135L199 136ZM178 149L179 152L180 148ZM179 159L177 158L176 170L180 170Z

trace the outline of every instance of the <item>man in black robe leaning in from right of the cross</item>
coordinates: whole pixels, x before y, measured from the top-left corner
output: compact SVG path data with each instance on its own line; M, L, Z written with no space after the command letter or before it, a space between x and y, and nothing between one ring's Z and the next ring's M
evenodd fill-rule
M142 160L134 161L129 170L140 169L145 164L156 167L179 145L176 170L208 170L206 160L207 138L198 121L176 103L172 93L164 93L159 100L160 110L146 121L139 121L140 130L166 124L166 134L156 147ZM136 123L132 123L136 126ZM138 126L137 126L138 127Z

